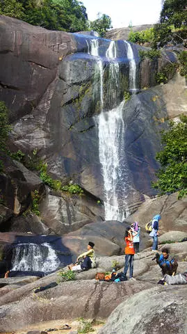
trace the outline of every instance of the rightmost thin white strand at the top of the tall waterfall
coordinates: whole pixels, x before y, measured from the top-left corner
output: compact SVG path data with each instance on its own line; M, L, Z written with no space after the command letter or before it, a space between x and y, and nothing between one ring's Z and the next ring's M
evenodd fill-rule
M133 56L131 44L124 40L127 47L127 58L129 59L129 89L136 90L136 61Z

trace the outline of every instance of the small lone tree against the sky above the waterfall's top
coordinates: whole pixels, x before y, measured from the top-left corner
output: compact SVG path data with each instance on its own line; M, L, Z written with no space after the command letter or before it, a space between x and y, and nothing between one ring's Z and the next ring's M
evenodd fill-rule
M104 37L106 35L106 31L111 29L113 26L111 24L111 17L106 14L98 13L97 19L95 21L90 22L90 28L99 33L99 36Z

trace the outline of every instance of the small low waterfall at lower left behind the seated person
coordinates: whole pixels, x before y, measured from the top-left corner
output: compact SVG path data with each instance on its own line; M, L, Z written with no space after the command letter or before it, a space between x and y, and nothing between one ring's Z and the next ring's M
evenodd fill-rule
M43 271L58 268L60 260L50 244L17 244L13 249L12 271Z

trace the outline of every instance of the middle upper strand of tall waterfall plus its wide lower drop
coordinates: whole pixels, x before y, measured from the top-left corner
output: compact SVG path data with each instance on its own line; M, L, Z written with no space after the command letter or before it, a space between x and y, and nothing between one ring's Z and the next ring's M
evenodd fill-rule
M120 94L120 66L117 62L117 50L112 41L106 51L109 61L107 100L109 105L119 104ZM102 175L104 178L104 209L105 219L123 221L127 215L126 184L127 166L124 163L124 121L122 109L124 101L110 111L101 111L97 117L99 130L99 160L101 162ZM123 160L123 166L121 161ZM123 198L119 189L123 184ZM119 195L119 196L118 196Z

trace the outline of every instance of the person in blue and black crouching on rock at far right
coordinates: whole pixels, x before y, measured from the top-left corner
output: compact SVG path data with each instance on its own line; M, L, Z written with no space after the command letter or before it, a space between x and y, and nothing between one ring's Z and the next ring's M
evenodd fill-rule
M177 273L178 263L177 260L169 254L168 248L163 248L162 254L156 253L156 262L162 269L163 276L168 274L174 276Z

